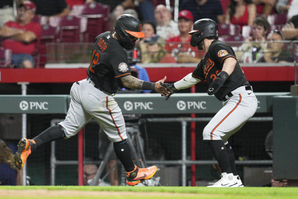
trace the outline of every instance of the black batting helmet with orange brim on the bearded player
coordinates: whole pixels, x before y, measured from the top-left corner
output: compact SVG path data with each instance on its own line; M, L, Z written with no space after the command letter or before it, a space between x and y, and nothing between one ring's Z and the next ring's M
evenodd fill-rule
M137 17L129 14L121 15L117 18L114 30L118 35L119 42L122 47L131 49L133 43L129 38L129 34L138 38L144 37L141 32L142 23Z

